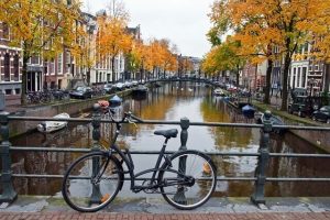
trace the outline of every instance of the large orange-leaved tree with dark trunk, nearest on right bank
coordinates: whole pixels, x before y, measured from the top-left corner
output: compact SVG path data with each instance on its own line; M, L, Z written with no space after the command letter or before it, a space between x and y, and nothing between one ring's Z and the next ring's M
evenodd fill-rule
M311 32L306 32L306 24L316 24L319 16L316 9L323 4L321 0L218 0L213 4L212 19L219 33L232 29L241 35L241 40L256 38L257 42L251 42L251 50L246 51L257 54L261 51L270 52L274 45L279 47L284 58L282 110L287 109L287 82L293 54L297 45L312 36ZM220 20L217 22L218 18ZM242 41L242 45L246 42Z

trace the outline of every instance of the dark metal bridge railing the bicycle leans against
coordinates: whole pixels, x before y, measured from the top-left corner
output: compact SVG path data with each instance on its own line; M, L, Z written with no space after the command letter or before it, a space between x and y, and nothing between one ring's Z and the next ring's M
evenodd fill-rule
M157 120L143 120L143 124L177 124L180 125L180 146L178 150L187 148L186 143L188 140L188 129L190 125L196 127L231 127L231 128L254 128L260 129L260 148L257 153L207 153L213 156L254 156L257 157L257 166L253 177L218 177L217 180L244 180L254 182L254 193L251 196L251 200L254 204L265 204L265 183L266 182L330 182L330 178L293 178L293 177L267 177L266 168L271 157L315 157L315 158L330 158L330 154L282 154L270 152L270 133L273 129L290 129L290 130L309 130L309 131L330 131L330 128L326 127L297 127L297 125L273 125L271 123L271 112L265 113L264 124L243 124L243 123L218 123L218 122L190 122L189 119L183 118L180 121L157 121ZM1 185L2 194L0 195L0 202L12 202L18 197L13 187L13 177L28 177L28 178L63 178L63 175L37 175L37 174L13 174L11 169L11 156L12 152L65 152L65 153L87 153L90 148L48 148L48 147L33 147L33 146L12 146L9 142L9 122L24 120L24 121L68 121L68 122L91 122L92 124L92 147L99 147L100 141L100 123L111 123L110 120L101 119L99 105L94 106L94 113L91 119L54 119L54 118L37 118L37 117L14 117L8 112L0 112L0 134L2 138L0 144L0 155L2 161L1 170ZM173 152L167 152L173 153ZM158 154L156 151L132 151L132 154Z

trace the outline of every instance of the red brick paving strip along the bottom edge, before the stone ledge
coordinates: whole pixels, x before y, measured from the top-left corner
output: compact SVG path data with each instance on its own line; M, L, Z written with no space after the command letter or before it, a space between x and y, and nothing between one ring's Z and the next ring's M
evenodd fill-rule
M322 213L77 213L77 212L43 212L43 213L1 213L0 220L102 220L102 219L136 219L136 220L251 220L251 219L267 219L267 220L326 220L330 219L330 212Z

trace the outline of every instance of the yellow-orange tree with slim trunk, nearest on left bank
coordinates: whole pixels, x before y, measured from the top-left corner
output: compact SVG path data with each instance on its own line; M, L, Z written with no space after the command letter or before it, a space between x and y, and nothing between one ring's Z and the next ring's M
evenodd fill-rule
M79 4L53 0L0 2L0 21L10 29L10 44L22 48L22 105L25 105L28 62L32 56L55 57L75 44Z

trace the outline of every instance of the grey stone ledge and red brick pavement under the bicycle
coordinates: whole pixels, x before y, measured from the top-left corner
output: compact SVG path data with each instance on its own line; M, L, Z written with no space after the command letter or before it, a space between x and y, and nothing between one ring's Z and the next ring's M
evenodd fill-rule
M256 207L249 198L211 198L202 207L182 211L162 198L119 198L96 213L79 213L61 197L23 197L0 206L0 220L23 219L136 219L136 220L309 220L330 219L330 198L267 198L266 206Z

